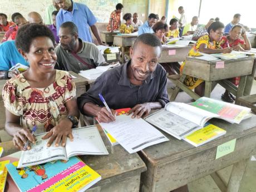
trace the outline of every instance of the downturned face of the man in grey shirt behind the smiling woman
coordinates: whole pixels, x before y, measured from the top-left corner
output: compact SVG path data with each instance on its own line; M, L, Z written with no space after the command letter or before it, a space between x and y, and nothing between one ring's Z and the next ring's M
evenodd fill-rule
M74 51L76 47L76 38L70 32L69 28L60 28L58 31L58 36L60 37L61 47L67 51Z

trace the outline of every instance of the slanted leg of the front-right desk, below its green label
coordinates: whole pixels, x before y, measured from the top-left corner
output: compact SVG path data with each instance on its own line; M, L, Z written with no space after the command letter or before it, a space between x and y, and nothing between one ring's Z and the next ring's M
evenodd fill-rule
M228 181L227 192L239 192L245 169L247 168L249 159L239 161L233 165L233 169Z

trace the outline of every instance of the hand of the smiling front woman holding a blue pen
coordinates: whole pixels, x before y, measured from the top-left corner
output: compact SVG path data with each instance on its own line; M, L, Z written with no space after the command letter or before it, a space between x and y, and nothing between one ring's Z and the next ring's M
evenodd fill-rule
M13 145L18 148L19 150L24 149L24 145L26 144L27 140L32 142L33 144L36 143L35 135L31 134L31 131L27 128L22 128L13 134ZM28 144L27 149L31 149L31 146Z

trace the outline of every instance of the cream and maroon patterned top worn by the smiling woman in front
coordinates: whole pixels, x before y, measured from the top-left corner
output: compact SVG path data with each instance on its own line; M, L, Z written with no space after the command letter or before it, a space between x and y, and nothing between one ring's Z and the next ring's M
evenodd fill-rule
M46 88L33 88L19 74L3 87L6 109L20 116L22 126L32 129L37 125L36 135L50 131L68 114L65 103L76 96L76 86L66 71L56 70L55 82Z

